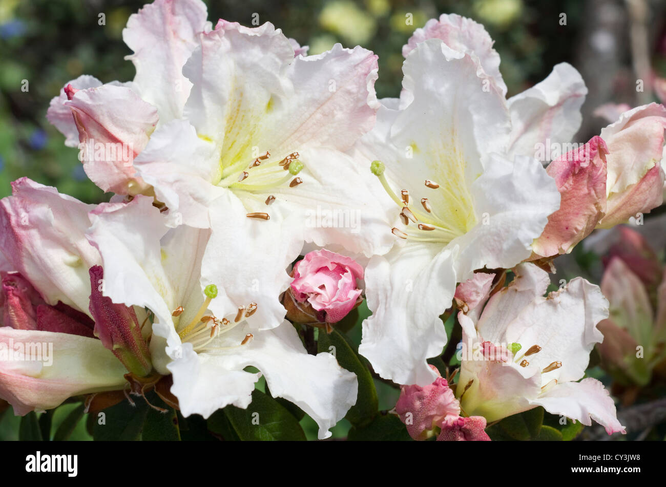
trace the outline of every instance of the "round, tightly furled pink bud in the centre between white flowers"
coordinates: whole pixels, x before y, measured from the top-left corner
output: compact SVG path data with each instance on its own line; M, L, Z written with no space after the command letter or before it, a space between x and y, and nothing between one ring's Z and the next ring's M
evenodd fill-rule
M338 323L358 305L362 291L358 289L356 279L363 279L363 267L350 257L326 249L308 252L296 262L292 275L294 281L290 291L293 301L314 310L308 313L311 321ZM287 299L285 297L285 301ZM303 306L300 308L307 313ZM287 317L303 322L294 313L292 315L288 313Z

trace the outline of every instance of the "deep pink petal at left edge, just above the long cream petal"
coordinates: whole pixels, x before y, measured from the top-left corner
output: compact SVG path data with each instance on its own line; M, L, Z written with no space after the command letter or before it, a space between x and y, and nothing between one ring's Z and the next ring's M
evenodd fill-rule
M17 273L3 272L1 297L3 326L19 330L37 329L35 307L44 301L25 277Z

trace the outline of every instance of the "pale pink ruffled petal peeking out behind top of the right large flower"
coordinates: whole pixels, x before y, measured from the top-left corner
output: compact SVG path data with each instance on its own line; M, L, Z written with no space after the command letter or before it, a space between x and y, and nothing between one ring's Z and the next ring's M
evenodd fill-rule
M441 39L454 51L478 57L483 71L506 95L506 84L500 73L500 55L493 49L494 41L483 25L460 15L442 14L439 21L430 19L422 29L414 31L408 43L402 47L402 55L407 57L418 43L427 39Z

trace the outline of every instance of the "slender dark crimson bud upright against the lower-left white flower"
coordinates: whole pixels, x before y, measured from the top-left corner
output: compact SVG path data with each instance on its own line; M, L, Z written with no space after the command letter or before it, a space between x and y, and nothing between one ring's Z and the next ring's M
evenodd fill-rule
M134 308L123 303L113 303L103 295L104 271L101 265L89 269L91 295L90 314L95 319L95 336L107 349L139 377L153 369L146 342L141 335L139 319Z

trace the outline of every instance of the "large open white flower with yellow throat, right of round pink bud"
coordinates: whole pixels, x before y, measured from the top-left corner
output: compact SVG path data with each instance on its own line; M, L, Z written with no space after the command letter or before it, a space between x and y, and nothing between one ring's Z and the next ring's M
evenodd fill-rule
M534 148L573 135L586 89L575 69L557 65L506 100L488 33L456 15L419 29L404 54L400 100L382 100L354 150L400 218L384 228L399 242L366 269L373 315L359 351L386 379L428 385L435 376L426 359L446 344L439 317L456 281L529 257L559 208Z

